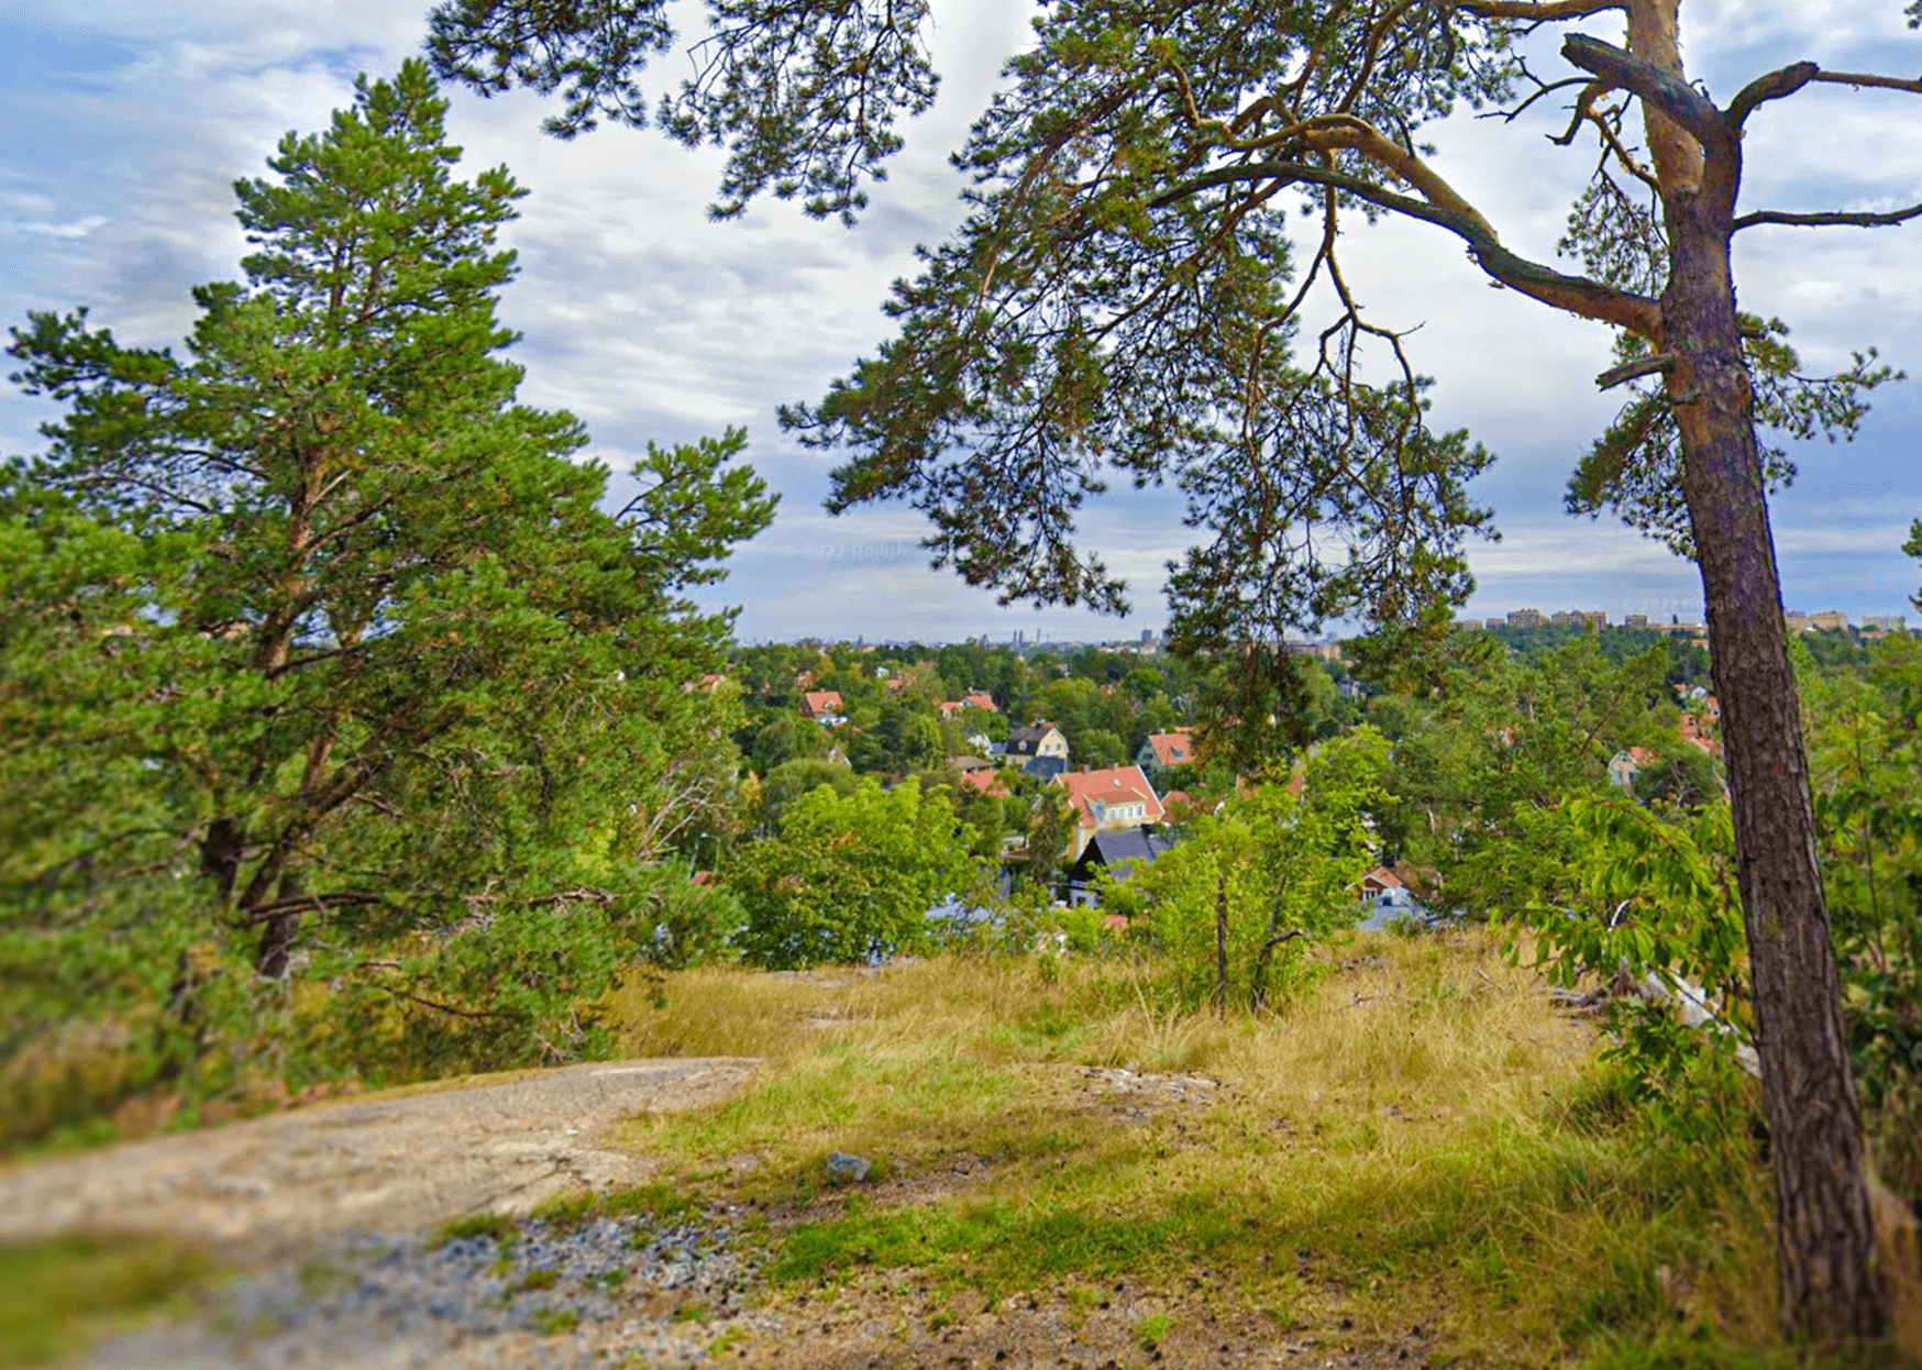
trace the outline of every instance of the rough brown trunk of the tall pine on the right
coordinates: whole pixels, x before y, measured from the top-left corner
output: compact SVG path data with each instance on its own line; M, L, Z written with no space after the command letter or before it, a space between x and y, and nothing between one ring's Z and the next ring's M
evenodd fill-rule
M1776 1182L1782 1326L1791 1337L1866 1339L1887 1328L1887 1301L1736 319L1728 242L1737 183L1739 144L1730 136L1711 152L1699 192L1664 196L1672 273L1663 319L1676 355L1668 396L1722 703Z

